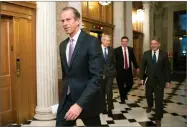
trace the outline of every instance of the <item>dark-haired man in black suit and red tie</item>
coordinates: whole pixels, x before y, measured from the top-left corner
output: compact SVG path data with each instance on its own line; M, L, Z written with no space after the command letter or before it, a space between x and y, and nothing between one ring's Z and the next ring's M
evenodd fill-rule
M116 80L119 87L121 103L125 103L125 99L127 99L127 94L133 86L131 63L133 63L137 72L139 72L139 67L136 62L136 58L134 56L133 48L127 46L128 41L129 41L128 37L126 36L122 37L121 38L122 46L114 50L116 56L116 71L117 71Z

